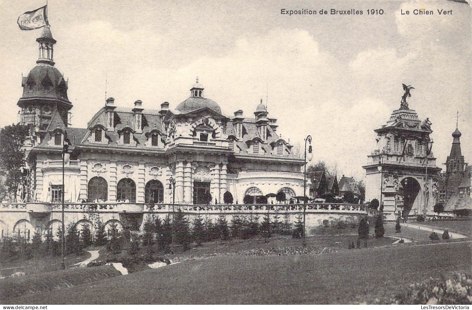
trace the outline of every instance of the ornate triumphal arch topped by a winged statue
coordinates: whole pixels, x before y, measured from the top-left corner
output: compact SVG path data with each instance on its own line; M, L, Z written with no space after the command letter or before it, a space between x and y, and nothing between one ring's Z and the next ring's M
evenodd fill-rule
M367 156L366 200L378 199L389 220L396 216L416 216L433 213L438 195L436 158L430 138L431 122L421 121L416 111L408 108L405 94L398 110L394 110L385 125L374 131L377 145Z

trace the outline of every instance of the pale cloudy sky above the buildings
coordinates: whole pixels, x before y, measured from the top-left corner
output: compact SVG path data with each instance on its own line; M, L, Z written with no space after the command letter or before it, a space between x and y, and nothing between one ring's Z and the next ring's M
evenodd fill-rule
M0 2L0 127L17 122L21 75L37 59L42 29L17 18L42 0ZM118 106L170 108L198 76L204 95L232 116L262 98L292 145L312 136L313 161L362 178L373 131L414 86L410 109L432 122L440 167L459 111L472 164L471 8L452 1L66 1L50 0L54 61L68 78L72 125L85 127L114 97ZM413 15L413 9L434 15ZM362 15L282 15L281 9L362 10ZM367 15L382 9L383 15ZM437 9L452 10L438 15ZM410 11L409 15L401 12ZM105 81L107 80L107 83ZM266 100L267 99L267 100Z

